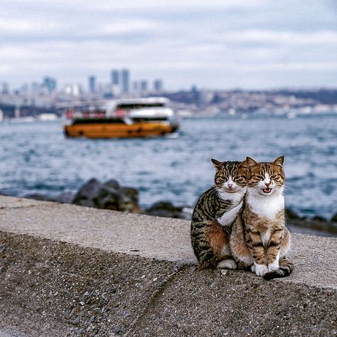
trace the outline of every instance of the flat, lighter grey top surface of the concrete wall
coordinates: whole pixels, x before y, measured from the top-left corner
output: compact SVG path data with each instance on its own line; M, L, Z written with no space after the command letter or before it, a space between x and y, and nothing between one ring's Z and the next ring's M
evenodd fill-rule
M21 205L18 207L18 205ZM25 205L25 206L24 206ZM0 230L171 262L196 263L186 220L0 196ZM337 289L337 240L292 235L296 269L277 282Z

